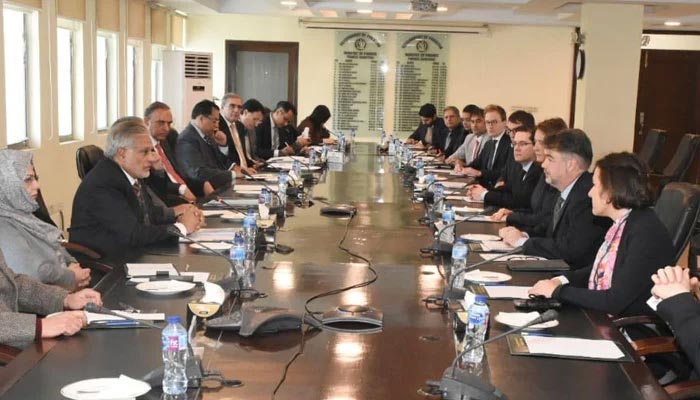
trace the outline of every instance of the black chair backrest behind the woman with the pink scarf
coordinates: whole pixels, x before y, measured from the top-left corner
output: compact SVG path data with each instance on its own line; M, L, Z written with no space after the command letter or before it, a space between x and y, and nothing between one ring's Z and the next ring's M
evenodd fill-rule
M686 182L672 182L664 186L654 211L671 234L678 261L695 228L700 211L700 186Z

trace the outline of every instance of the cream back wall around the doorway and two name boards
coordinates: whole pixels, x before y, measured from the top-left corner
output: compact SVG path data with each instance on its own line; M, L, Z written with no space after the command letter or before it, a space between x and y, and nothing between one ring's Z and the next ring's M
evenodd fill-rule
M568 118L571 32L572 28L493 26L489 35L452 34L447 104L461 109L468 103L482 107L497 103L507 111L524 106L535 109L538 120ZM390 66L395 61L395 38L390 33L387 39ZM302 118L318 104L333 103L334 39L334 31L302 28L296 18L191 15L187 20L187 48L214 54L213 84L218 97L225 89L226 40L298 42L298 108ZM391 131L393 70L386 83L384 125Z

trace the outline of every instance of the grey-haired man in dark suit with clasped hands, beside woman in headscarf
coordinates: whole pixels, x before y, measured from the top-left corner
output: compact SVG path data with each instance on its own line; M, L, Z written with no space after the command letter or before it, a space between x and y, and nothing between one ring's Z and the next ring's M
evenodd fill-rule
M141 118L125 117L110 128L105 159L82 180L73 199L72 242L112 260L128 250L199 229L201 211L184 204L164 208L153 204L143 180L158 154Z

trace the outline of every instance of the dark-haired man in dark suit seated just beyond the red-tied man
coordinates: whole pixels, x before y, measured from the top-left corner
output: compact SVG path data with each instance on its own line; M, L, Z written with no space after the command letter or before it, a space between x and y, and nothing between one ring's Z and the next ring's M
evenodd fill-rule
M214 189L236 179L228 159L228 141L219 130L219 106L202 100L192 109L192 121L177 139L177 158L182 171L192 179L209 181Z

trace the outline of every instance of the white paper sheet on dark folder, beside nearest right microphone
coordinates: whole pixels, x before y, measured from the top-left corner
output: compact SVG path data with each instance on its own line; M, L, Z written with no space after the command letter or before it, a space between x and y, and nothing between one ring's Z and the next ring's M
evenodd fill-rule
M617 360L625 355L611 340L524 336L530 354Z

